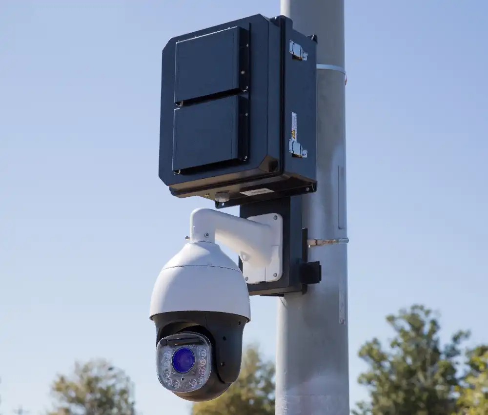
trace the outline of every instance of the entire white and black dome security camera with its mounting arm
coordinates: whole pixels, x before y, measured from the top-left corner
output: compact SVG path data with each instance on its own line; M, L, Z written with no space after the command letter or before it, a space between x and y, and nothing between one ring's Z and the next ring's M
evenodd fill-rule
M254 275L281 275L282 218L253 219L194 210L189 239L154 286L150 318L158 379L185 400L214 399L237 380L251 317L243 273L215 240L239 253L248 269L257 270Z

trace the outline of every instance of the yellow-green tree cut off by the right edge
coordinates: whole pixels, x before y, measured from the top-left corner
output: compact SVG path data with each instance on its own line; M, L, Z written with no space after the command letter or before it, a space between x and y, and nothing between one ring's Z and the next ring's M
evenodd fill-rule
M468 372L456 388L458 415L488 414L488 347L478 346L467 353Z

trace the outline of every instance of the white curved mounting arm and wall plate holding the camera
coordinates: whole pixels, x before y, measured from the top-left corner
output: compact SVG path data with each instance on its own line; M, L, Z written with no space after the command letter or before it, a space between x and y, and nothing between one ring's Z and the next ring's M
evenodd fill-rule
M215 243L216 240L239 254L244 269L248 268L246 265L253 269L263 269L263 272L256 270L258 275L254 278L247 277L249 284L277 280L281 277L281 215L271 213L244 219L213 209L195 209L190 216L190 242ZM247 276L245 272L244 276ZM254 281L255 279L261 281Z

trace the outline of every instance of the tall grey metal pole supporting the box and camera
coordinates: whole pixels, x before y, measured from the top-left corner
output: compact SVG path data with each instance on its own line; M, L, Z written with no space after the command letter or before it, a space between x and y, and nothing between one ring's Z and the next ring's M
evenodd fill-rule
M318 37L318 190L302 222L322 282L278 301L275 414L348 415L344 0L281 0L281 14Z

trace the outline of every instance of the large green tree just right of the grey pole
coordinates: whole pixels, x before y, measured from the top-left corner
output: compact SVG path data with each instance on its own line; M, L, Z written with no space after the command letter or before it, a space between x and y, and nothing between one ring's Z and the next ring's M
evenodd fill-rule
M468 332L456 332L441 346L436 316L424 306L414 305L389 315L386 321L396 335L384 349L377 338L359 351L369 369L359 376L370 402L358 403L355 415L447 415L459 405L458 356Z

